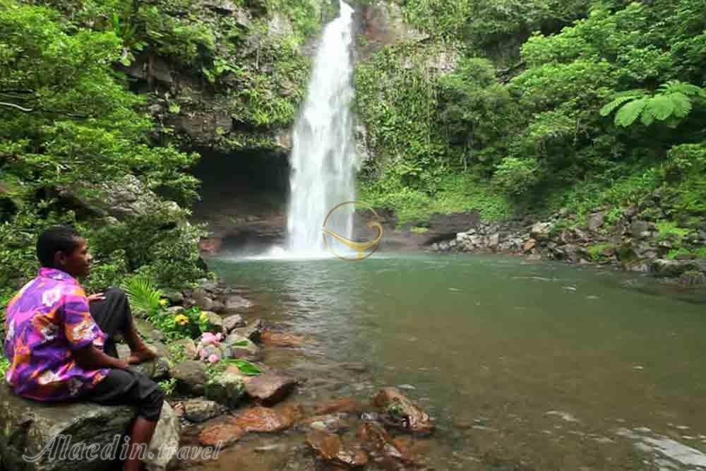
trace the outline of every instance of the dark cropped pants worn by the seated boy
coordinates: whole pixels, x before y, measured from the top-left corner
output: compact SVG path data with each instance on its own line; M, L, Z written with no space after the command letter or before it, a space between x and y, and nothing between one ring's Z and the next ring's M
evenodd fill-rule
M104 352L117 358L115 335L132 328L132 312L123 290L112 288L104 292L105 299L90 303L90 314L106 335ZM131 405L137 407L138 417L157 422L162 412L164 392L157 383L133 369L110 369L86 395L92 403L102 405Z

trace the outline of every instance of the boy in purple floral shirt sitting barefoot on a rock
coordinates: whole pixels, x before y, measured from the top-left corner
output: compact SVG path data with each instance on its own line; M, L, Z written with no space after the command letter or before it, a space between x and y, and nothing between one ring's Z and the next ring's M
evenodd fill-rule
M7 382L14 393L33 400L81 399L137 407L131 444L148 445L164 393L157 383L128 367L153 359L155 353L136 332L125 293L112 289L86 296L76 278L88 275L92 257L86 240L69 227L42 232L37 258L41 264L37 278L7 306L4 350L11 362ZM116 333L130 346L127 362L118 359ZM139 455L128 453L124 470L141 467Z

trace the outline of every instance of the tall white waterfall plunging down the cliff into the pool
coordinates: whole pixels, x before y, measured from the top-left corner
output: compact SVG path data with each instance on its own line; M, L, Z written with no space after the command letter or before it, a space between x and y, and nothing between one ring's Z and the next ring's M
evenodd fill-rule
M358 162L352 137L352 13L340 2L340 16L329 23L316 54L309 91L294 125L291 203L287 217L290 253L323 251L321 227L337 204L354 200ZM333 213L327 229L350 237L352 206Z

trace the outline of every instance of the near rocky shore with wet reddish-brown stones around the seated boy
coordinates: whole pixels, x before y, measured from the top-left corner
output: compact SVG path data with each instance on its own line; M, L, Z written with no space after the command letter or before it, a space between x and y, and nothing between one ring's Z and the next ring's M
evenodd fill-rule
M164 407L150 449L174 448L174 453L149 461L148 470L220 469L217 461L198 458L203 453L177 453L179 449L227 453L246 437L251 444L253 440L262 442L256 446L258 453L276 455L279 448L268 448L267 437L292 433L301 441L289 448L299 451L296 459L286 458L299 463L292 469L310 469L311 463L357 468L376 462L388 469L424 464L417 440L432 434L433 419L397 388L382 388L368 403L351 397L317 403L297 400L297 392L301 393L311 378L281 369L265 352L292 354L312 340L269 326L258 317L262 310L249 298L244 288L210 280L202 280L193 290L164 292L169 316L199 309L200 318L207 319L208 333L196 341L168 340L150 321L136 318L140 334L160 357L133 367L160 381L168 392L169 405ZM119 345L119 354L128 354L125 345ZM365 369L343 367L348 371ZM0 434L0 470L104 469L108 463L71 460L70 455L36 463L20 457L36 454L56 434L71 435L76 442L106 445L116 434L126 434L133 417L130 407L37 404L16 397L5 387L0 390L0 401L4 406L0 422L6 424Z

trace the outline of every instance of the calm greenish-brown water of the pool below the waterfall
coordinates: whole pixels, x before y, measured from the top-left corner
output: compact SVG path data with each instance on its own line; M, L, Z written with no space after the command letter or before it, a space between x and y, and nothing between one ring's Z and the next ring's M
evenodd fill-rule
M295 400L402 386L436 418L435 469L706 469L700 294L501 256L210 266L313 340L270 352L310 378Z

